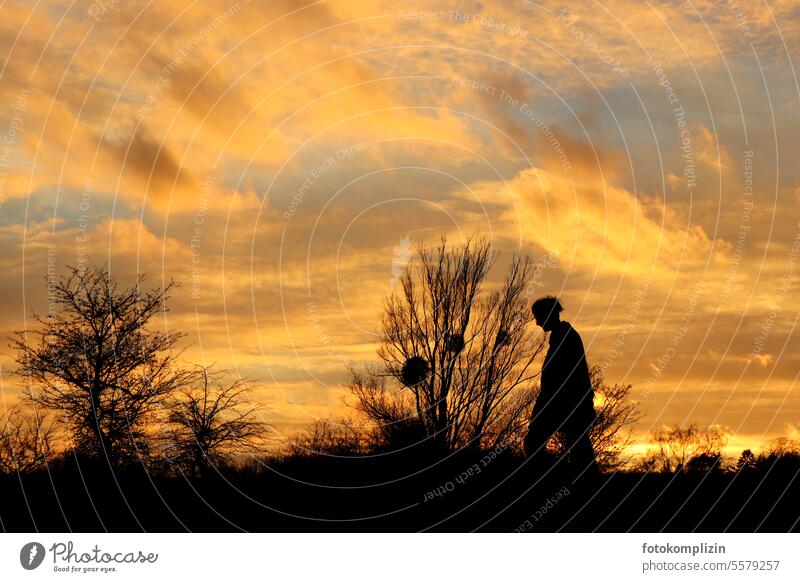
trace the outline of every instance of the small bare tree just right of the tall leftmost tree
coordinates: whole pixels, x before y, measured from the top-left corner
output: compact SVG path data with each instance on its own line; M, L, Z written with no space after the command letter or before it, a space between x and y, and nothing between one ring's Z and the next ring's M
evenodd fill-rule
M253 385L237 378L226 382L225 370L198 366L196 380L168 404L168 453L194 476L252 452L262 442L266 423L256 417L262 408L247 401Z

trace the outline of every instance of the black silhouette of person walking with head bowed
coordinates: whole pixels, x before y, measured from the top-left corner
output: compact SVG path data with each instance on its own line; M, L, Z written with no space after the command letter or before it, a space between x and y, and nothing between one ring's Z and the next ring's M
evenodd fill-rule
M532 307L537 325L550 332L550 346L542 365L541 392L525 437L525 454L541 458L550 438L560 433L577 472L595 474L597 463L589 440L589 429L596 419L594 390L581 336L569 322L561 321L563 309L558 298L550 296L537 299Z

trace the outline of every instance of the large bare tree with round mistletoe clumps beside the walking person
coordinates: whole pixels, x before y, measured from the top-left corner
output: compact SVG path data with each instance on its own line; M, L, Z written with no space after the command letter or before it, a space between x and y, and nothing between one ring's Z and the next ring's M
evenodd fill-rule
M455 249L444 238L435 248L418 247L385 302L378 348L386 373L406 392L387 397L378 385L351 381L373 420L413 417L443 450L493 446L509 436L503 422L527 422L533 363L543 349L528 325L533 265L515 257L505 281L489 291L495 261L485 239Z

